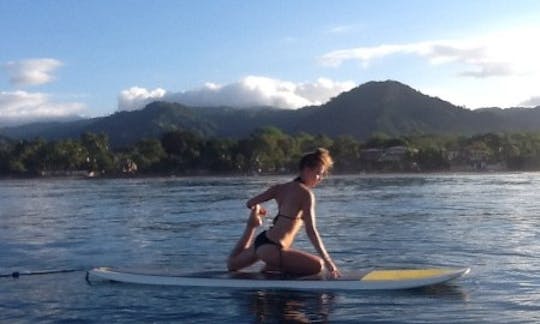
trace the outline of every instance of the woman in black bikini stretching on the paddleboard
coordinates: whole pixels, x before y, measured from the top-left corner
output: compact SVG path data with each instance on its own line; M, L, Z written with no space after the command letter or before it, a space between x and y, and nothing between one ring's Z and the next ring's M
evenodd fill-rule
M317 231L315 196L311 190L321 182L332 165L328 150L319 148L302 157L300 175L296 179L272 186L247 201L251 214L242 237L229 256L229 271L240 270L262 260L266 263L265 271L309 276L321 272L324 266L332 277L340 276ZM261 218L266 215L266 210L260 204L271 199L275 199L278 205L274 225L260 233L252 243L255 229L262 224ZM291 248L302 223L320 257Z

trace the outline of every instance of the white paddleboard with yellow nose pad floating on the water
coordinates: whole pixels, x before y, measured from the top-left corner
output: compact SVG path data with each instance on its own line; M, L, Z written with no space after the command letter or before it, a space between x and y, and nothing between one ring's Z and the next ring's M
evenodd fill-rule
M92 275L116 282L162 286L294 290L389 290L441 284L459 278L469 271L470 268L366 270L354 275L345 275L338 279L326 279L323 276L288 279L280 275L254 272L164 275L100 267L88 271L87 280Z

